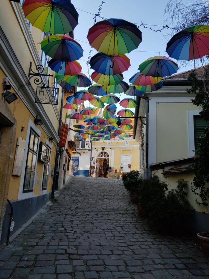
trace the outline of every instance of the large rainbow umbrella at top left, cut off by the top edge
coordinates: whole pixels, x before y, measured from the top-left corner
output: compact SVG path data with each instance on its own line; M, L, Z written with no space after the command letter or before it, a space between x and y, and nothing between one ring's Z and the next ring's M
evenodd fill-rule
M66 34L78 24L78 13L67 0L25 0L25 17L43 32Z

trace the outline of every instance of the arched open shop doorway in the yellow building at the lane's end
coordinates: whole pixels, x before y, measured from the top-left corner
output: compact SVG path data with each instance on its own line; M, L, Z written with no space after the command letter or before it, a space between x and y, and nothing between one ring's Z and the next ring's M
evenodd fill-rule
M102 151L96 159L96 177L108 177L109 154Z

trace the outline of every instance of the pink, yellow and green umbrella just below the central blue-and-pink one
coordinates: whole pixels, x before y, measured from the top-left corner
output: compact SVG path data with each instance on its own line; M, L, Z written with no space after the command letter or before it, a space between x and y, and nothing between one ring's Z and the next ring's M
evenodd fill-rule
M91 79L102 85L115 85L123 80L122 74L117 75L103 75L101 73L93 72L91 74Z

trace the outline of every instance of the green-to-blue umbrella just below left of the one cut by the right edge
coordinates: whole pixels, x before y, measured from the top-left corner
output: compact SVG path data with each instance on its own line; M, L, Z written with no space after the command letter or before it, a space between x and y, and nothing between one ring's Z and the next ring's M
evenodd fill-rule
M141 73L152 77L171 76L176 73L178 65L166 56L150 57L139 65Z

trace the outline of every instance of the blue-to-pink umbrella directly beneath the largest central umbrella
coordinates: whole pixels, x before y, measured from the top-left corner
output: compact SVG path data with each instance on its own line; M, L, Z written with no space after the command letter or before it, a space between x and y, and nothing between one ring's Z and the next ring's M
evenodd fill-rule
M91 57L89 64L94 71L103 75L123 73L130 67L130 59L124 54L107 55L99 52Z

